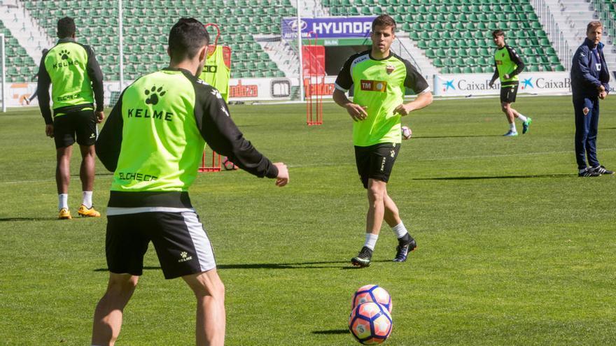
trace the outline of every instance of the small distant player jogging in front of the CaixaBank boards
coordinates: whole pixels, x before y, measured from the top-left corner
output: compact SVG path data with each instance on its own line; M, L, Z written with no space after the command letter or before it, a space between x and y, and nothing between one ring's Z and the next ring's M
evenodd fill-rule
M517 136L517 129L513 121L514 117L517 117L522 122L522 134L526 134L533 120L511 108L511 103L515 102L519 85L517 75L524 69L524 62L522 62L515 50L505 44L505 33L503 30L492 31L492 38L498 49L494 52L494 75L490 80L490 87L494 85L494 81L497 78L500 78L500 109L503 110L509 122L509 131L503 136Z

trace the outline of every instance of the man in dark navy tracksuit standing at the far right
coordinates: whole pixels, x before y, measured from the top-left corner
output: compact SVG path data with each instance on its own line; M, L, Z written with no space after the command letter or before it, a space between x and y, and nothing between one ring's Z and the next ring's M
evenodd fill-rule
M599 122L599 99L610 90L610 73L603 56L601 22L590 22L586 40L573 55L571 91L575 109L575 157L580 177L614 174L599 164L596 157L596 136ZM588 159L588 164L587 164Z

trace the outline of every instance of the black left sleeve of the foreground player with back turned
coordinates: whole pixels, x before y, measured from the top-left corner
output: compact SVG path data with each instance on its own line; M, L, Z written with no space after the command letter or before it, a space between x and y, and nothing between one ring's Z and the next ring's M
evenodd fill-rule
M120 157L120 148L122 147L122 127L124 120L122 118L122 96L118 99L118 103L111 110L111 114L107 117L107 121L99 138L96 142L97 157L101 160L105 168L111 172L115 172L118 167L118 158Z

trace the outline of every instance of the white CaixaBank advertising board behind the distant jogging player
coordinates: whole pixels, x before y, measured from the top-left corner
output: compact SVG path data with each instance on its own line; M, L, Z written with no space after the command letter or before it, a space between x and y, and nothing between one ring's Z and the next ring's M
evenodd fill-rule
M500 81L490 87L491 73L436 75L436 96L477 96L500 94ZM568 72L523 72L519 75L518 94L570 94Z

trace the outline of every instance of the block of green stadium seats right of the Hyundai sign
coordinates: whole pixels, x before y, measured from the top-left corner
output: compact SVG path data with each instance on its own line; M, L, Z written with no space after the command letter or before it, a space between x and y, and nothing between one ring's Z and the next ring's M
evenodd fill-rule
M528 0L322 0L332 15L393 14L441 73L494 71L491 31L505 30L527 71L564 71Z

